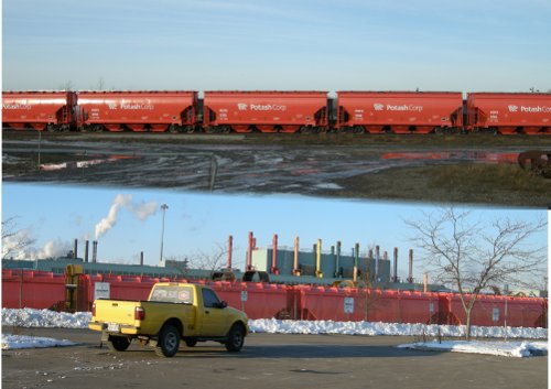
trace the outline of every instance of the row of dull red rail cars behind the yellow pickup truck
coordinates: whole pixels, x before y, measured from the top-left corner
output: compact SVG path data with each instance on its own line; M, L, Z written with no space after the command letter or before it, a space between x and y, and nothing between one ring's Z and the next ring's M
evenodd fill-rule
M88 311L96 283L109 283L110 298L147 300L159 281L136 275L80 275L78 311ZM457 294L364 290L256 282L198 281L210 285L228 305L250 318L369 321L386 323L465 324ZM2 307L61 309L65 277L43 271L2 270ZM541 298L479 295L472 324L547 327L548 301Z

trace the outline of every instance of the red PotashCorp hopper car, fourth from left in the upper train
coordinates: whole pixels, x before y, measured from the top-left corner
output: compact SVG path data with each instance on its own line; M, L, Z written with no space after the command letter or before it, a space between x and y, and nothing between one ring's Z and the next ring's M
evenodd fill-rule
M463 126L455 91L337 91L336 130L430 133Z

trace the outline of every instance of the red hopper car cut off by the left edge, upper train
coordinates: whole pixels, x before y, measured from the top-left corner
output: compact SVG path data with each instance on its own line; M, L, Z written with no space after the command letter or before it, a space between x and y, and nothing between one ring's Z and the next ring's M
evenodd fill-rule
M68 130L76 95L72 91L2 93L2 127L39 131Z

